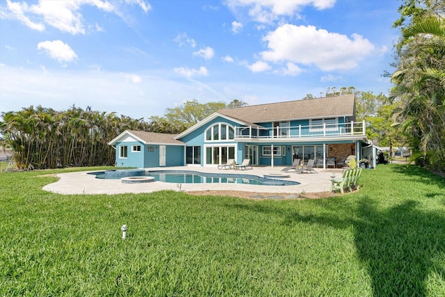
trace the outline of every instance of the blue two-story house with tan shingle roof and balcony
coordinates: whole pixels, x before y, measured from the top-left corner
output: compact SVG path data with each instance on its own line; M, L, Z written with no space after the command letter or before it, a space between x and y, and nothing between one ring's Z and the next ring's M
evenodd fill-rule
M108 144L118 167L218 166L229 159L289 166L298 158L327 168L349 155L362 158L365 129L355 122L354 95L342 95L221 109L178 135L127 130Z

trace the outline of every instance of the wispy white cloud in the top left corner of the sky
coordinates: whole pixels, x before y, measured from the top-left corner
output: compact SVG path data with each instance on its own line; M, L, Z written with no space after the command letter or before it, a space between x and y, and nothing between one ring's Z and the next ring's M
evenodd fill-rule
M137 5L145 13L151 9L149 3L145 0L124 0L124 3ZM34 5L28 5L25 2L12 2L7 0L7 10L2 15L11 19L18 19L20 22L33 30L44 31L45 24L52 26L62 32L72 35L85 34L86 27L95 31L103 31L99 24L85 24L85 19L81 13L81 7L89 5L105 11L107 13L115 13L122 19L126 17L116 6L113 6L106 0L76 0L76 1L45 1L39 0ZM38 22L31 19L37 19Z

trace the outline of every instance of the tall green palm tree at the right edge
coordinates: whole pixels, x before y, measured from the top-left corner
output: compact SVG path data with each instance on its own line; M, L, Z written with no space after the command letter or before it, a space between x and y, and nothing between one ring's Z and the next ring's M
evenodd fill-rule
M396 119L414 150L433 170L445 172L445 19L443 1L406 0L391 97Z

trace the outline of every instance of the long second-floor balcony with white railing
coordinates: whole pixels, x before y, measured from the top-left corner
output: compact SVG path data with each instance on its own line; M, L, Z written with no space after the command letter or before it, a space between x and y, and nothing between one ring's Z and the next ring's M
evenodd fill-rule
M277 140L300 138L351 138L366 136L365 122L347 122L341 124L323 124L308 126L261 128L252 126L235 127L235 139Z

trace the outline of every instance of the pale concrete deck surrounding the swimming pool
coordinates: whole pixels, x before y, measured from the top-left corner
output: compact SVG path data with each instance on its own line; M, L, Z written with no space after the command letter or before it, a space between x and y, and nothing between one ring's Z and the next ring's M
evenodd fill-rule
M245 174L257 175L263 177L264 175L275 175L280 173L284 167L254 167L247 170L218 170L216 167L162 167L162 168L145 168L145 170L190 170L208 173L230 173L230 174ZM118 168L117 168L118 169ZM341 169L326 169L316 168L317 173L294 173L287 172L289 177L278 178L299 182L295 186L257 186L250 184L181 184L181 191L245 191L258 193L317 193L330 191L330 179L333 173L337 177L341 177ZM123 193L152 193L155 191L172 190L179 191L176 183L166 182L149 182L142 184L123 184L120 179L97 179L95 175L89 175L88 172L68 172L58 173L56 177L59 178L57 182L43 186L43 190L53 193L60 193L65 195L70 194L123 194Z

